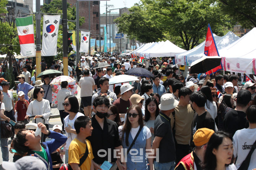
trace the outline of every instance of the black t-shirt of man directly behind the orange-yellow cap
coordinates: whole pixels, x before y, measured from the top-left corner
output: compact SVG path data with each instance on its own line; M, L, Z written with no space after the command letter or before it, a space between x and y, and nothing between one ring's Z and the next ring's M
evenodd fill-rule
M215 123L214 119L212 118L211 114L206 111L200 116L198 116L197 113L194 114L192 126L191 126L191 138L190 138L190 147L194 147L194 142L193 142L193 135L196 133L196 130L201 129L201 128L208 128L212 129L215 131Z

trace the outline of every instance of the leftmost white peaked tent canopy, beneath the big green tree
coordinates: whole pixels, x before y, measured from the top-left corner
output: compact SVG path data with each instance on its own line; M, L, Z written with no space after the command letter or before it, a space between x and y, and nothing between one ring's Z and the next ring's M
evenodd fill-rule
M146 58L151 57L172 57L175 54L180 54L185 52L185 49L182 49L175 44L171 43L169 40L165 41L164 44L158 46L159 48L152 48L146 52Z

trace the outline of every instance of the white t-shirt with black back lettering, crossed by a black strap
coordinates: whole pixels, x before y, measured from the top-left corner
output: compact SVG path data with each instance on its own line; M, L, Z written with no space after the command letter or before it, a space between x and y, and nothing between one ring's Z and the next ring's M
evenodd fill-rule
M241 129L233 136L233 155L237 157L236 167L239 168L256 140L256 129ZM256 168L256 151L251 155L249 170Z

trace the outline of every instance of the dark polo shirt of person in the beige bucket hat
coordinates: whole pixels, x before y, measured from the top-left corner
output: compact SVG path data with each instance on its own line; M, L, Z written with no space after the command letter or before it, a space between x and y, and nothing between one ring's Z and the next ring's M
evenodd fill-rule
M159 162L172 162L175 157L175 143L172 135L171 119L164 113L156 117L154 134L156 137L162 137L159 145Z

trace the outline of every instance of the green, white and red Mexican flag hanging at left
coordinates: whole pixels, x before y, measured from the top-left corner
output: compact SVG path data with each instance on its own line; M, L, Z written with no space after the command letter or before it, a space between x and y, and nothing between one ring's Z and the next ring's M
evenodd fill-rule
M36 56L33 16L16 17L21 56Z

